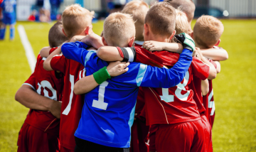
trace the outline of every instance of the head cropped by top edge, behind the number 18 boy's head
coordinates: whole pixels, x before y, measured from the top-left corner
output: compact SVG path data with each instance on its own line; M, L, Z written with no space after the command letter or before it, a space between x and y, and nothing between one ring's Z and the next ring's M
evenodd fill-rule
M189 23L193 20L196 6L192 0L164 0L164 1L171 4L171 6L173 6L175 9L178 9L178 7L181 7L181 11L186 13Z

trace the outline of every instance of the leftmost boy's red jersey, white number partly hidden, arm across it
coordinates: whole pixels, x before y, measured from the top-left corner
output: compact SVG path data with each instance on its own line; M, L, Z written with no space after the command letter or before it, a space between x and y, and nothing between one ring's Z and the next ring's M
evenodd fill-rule
M56 48L52 48L50 53L55 49ZM60 101L63 88L63 76L61 73L44 70L43 62L45 59L46 58L42 58L41 55L38 55L35 71L24 85L30 85L42 96ZM50 112L30 109L25 122L52 134L58 134L59 131L60 121Z

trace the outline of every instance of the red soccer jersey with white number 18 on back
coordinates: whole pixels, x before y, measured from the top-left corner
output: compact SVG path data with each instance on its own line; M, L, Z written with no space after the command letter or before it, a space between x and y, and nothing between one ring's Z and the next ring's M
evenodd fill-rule
M136 61L147 65L171 67L179 58L178 53L149 52L137 47L135 49ZM148 125L176 124L200 119L196 102L193 100L193 91L188 89L192 74L205 80L209 75L209 67L201 60L193 58L186 77L177 86L169 89L143 87Z

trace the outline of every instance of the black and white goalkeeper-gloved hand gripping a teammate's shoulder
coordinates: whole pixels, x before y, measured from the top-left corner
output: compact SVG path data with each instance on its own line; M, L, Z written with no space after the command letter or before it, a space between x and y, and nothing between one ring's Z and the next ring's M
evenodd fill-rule
M191 36L189 36L188 34L181 33L174 37L176 38L176 40L181 42L181 44L183 45L183 48L191 50L192 52L193 50L195 50L195 47L196 47L195 42L193 41L193 38L191 38Z

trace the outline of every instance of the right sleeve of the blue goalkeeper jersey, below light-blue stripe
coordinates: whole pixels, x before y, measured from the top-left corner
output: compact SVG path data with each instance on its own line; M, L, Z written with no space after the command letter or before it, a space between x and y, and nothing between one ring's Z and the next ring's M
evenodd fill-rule
M136 78L137 86L169 88L178 85L191 65L192 52L183 49L178 62L171 69L141 64Z

